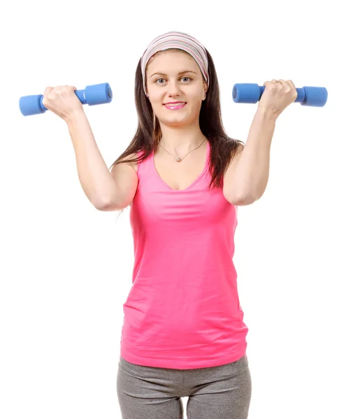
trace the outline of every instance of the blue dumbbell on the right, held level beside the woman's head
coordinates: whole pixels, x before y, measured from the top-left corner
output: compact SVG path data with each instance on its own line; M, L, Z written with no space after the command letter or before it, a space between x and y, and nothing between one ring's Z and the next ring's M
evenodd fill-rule
M256 83L237 83L233 86L232 96L236 103L257 103L260 101L266 86L259 86ZM327 90L325 87L304 86L296 88L298 96L294 102L304 106L324 106L327 101Z

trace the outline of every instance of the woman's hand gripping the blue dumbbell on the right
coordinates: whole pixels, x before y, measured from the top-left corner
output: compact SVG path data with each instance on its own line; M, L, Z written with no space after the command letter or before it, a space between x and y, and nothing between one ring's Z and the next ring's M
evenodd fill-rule
M265 90L258 103L258 108L273 112L276 117L298 96L294 82L281 79L278 81L279 83L264 82Z

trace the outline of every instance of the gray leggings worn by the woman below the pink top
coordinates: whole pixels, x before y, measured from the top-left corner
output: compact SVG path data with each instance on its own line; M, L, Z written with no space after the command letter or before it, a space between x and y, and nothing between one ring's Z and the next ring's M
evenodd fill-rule
M122 419L247 419L252 381L247 355L218 367L170 369L120 356L117 397Z

